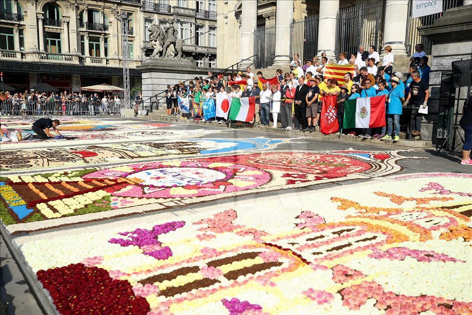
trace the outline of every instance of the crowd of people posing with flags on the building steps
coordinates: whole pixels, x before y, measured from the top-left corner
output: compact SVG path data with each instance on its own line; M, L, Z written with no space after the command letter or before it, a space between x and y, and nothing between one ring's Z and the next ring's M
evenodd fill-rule
M395 59L391 53L392 48L386 46L380 63L379 53L375 46L370 46L365 51L364 46L359 47L358 52L350 54L341 52L339 60L328 59L326 53L319 58L306 59L301 64L299 55L295 54L290 63L290 71L283 73L277 69L277 85L262 85L262 90L257 84L263 73L258 71L255 75L251 68L246 68L245 73L239 71L236 75L213 75L208 77L195 77L186 84L179 82L175 86L167 86L165 100L167 116L181 115L181 119L204 120L202 117L201 103L212 98L216 94L223 93L232 98L256 97L256 114L250 126L269 126L272 120L273 128L299 129L305 132L313 132L320 123L320 114L323 107L323 96L335 95L338 104L338 132L358 137L375 137L383 140L398 140L400 135L400 116L407 107L413 110L414 125L412 134L421 135L422 115L418 113L420 107L426 107L429 98L428 81L429 71L428 57L423 51L424 46L416 46L416 52L411 58L410 71L406 78L401 72L394 72ZM354 71L346 72L344 82L335 79L325 79L326 65L353 65ZM245 82L244 82L245 81ZM233 84L229 84L233 82ZM238 82L244 82L240 84ZM361 97L385 97L386 127L371 130L351 129L342 130L342 117L344 101ZM178 96L189 96L190 112L182 114L179 111ZM272 113L272 117L271 117ZM224 122L222 117L216 117L215 122ZM278 124L279 123L279 124ZM244 124L237 122L237 124ZM420 139L420 137L417 137Z

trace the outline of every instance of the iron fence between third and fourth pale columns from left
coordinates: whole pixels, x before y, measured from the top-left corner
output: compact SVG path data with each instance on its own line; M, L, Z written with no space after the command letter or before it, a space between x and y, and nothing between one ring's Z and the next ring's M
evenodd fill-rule
M357 1L337 14L335 52L357 52L360 45L382 46L383 1Z

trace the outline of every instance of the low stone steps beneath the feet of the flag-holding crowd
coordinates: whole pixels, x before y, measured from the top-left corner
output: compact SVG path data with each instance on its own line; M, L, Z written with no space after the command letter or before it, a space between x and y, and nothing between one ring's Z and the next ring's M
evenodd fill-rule
M236 126L234 123L216 123L216 122L204 122L204 121L193 121L191 119L180 119L180 114L177 117L171 116L167 118L166 107L165 104L159 106L159 109L153 109L147 116L138 116L139 118L145 119L153 119L153 120L161 120L173 123L189 123L195 125L206 125L206 126L213 126L213 127L220 127L220 128L232 128L232 129L246 129L251 131L262 131L262 132L273 132L276 134L288 134L288 135L300 135L300 136L307 136L313 137L320 140L337 140L337 141L346 141L346 142L362 142L362 143L372 143L372 144L382 144L382 145L391 145L392 147L408 147L408 148L430 148L432 147L431 141L425 140L417 140L417 141L407 141L405 140L405 133L400 133L400 140L393 143L392 140L387 141L380 141L379 139L368 139L368 138L359 138L359 137L352 137L339 134L330 134L324 135L319 131L315 132L301 132L298 130L285 130L285 129L273 129L269 127L248 127L248 126ZM272 122L271 122L272 125Z

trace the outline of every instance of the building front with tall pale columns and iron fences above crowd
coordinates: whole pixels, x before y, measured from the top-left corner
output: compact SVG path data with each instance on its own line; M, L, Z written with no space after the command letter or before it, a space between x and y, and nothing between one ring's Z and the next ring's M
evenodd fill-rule
M359 45L390 45L397 56L430 53L431 42L417 27L431 25L441 13L412 18L410 0L222 0L218 5L218 63L246 59L255 68L287 65L294 53L313 58L326 52L356 52ZM444 0L443 11L471 2Z

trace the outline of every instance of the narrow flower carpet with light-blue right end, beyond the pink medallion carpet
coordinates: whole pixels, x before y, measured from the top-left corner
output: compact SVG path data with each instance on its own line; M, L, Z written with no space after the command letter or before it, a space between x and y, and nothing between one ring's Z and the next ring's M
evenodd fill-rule
M161 131L143 131L140 133L142 135L146 133L154 134L155 132L160 133ZM165 132L163 131L163 133ZM170 133L174 134L173 132ZM283 140L266 138L175 140L173 142L123 142L93 146L3 151L0 156L0 170L73 167L132 159L220 154L239 150L268 149L283 142Z

